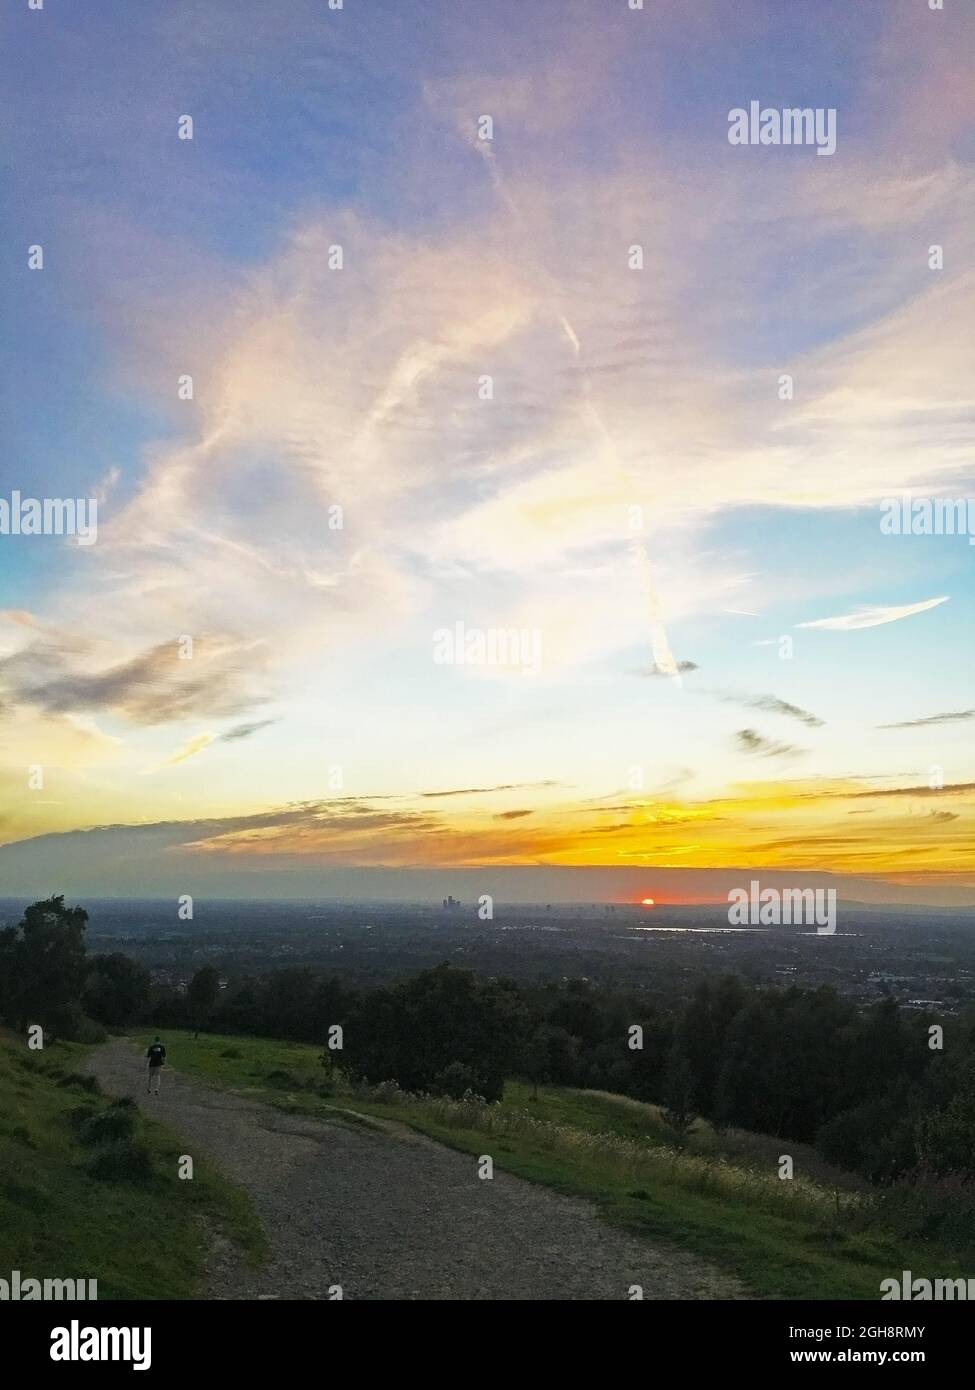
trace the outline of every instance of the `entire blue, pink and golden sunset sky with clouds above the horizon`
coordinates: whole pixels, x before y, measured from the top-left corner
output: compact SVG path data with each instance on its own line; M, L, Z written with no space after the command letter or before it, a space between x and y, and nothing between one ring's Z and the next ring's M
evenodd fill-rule
M880 531L975 481L969 6L49 0L0 42L0 496L99 499L93 545L0 535L0 891L975 902L975 548ZM732 146L751 100L836 153ZM435 660L456 624L541 659Z

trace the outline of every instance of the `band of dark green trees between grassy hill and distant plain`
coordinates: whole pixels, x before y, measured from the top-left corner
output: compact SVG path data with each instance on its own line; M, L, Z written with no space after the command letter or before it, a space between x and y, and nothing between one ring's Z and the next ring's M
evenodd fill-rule
M517 1077L615 1091L663 1106L675 1143L695 1118L815 1144L875 1183L926 1170L975 1179L975 1019L937 1020L892 998L860 1008L832 988L702 980L687 1001L586 980L523 984L449 965L378 988L310 969L220 988L150 987L122 954L85 951L82 908L33 903L0 931L0 1019L65 1037L92 1027L206 1027L324 1045L367 1083L497 1101ZM943 1030L943 1031L942 1031Z

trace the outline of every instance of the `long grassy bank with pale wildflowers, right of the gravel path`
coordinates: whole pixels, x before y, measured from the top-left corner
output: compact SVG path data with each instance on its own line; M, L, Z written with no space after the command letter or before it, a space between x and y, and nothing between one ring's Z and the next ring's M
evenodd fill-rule
M879 1298L880 1280L912 1269L964 1276L957 1254L894 1237L862 1184L811 1150L698 1126L675 1152L652 1105L601 1091L509 1084L499 1105L414 1101L395 1087L328 1081L319 1049L261 1038L167 1033L171 1062L289 1111L341 1108L410 1125L497 1169L594 1201L605 1219L712 1259L764 1298ZM777 1176L790 1154L796 1176Z

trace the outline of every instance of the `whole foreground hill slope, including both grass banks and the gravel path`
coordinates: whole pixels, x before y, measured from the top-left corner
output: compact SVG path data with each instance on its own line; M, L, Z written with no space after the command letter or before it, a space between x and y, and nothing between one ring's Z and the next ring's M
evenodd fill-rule
M406 1298L593 1297L580 1290L591 1290L595 1270L605 1284L595 1297L627 1297L625 1286L645 1283L651 1298L737 1290L869 1300L901 1269L965 1273L957 1251L897 1238L862 1184L816 1170L798 1145L797 1176L783 1182L776 1163L787 1144L702 1129L691 1151L676 1152L655 1106L609 1093L542 1087L535 1099L509 1083L499 1105L417 1098L391 1084L349 1087L303 1044L164 1037L182 1076L167 1076L156 1111L139 1094L139 1052L129 1044L89 1058L72 1044L31 1052L0 1033L4 1277L18 1269L24 1277L97 1279L102 1298L246 1298L266 1287L282 1290L278 1297L328 1297L317 1273L291 1294L277 1280L275 1270L303 1268L278 1250L295 1232L310 1250L321 1247L323 1270L337 1257L350 1270L350 1297L382 1297L382 1280L395 1284L388 1295ZM92 1065L114 1101L82 1070ZM225 1104L220 1088L243 1095ZM289 1119L274 1120L268 1102ZM410 1130L423 1136L412 1145L402 1143ZM242 1137L264 1145L267 1161L250 1162ZM460 1152L451 1156L451 1148ZM186 1151L192 1182L178 1177ZM204 1154L239 1187L202 1162ZM494 1183L474 1177L483 1155L492 1158ZM296 1180L303 1173L306 1190ZM538 1190L533 1200L519 1177L559 1197ZM597 1212L623 1229L599 1234ZM526 1240L535 1220L540 1234ZM376 1227L371 1264L366 1227ZM467 1245L478 1252L473 1262ZM207 1261L214 1250L216 1279ZM477 1287L467 1289L472 1270ZM467 1291L452 1291L452 1282Z

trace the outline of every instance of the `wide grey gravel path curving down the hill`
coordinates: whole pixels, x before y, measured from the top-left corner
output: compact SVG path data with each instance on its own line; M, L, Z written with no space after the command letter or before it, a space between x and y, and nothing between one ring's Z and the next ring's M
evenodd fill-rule
M216 1241L204 1298L747 1297L729 1275L601 1222L595 1209L399 1126L285 1115L234 1091L145 1072L117 1040L92 1055L103 1088L131 1095L253 1198L271 1247L260 1269Z

